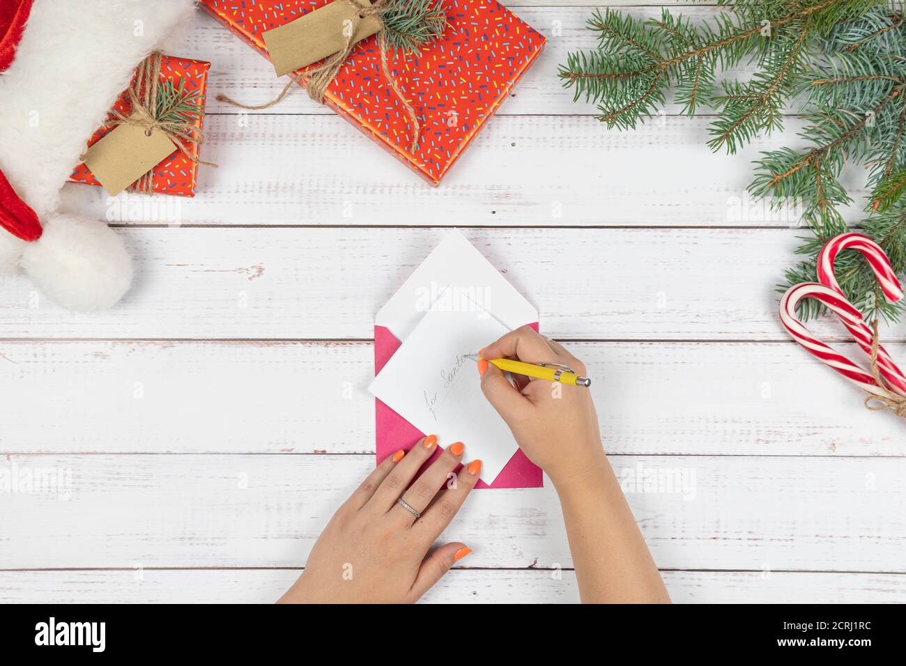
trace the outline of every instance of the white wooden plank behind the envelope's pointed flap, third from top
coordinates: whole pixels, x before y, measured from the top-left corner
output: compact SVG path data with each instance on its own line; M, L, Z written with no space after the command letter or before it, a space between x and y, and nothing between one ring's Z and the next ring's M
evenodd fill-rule
M448 233L395 228L120 229L135 285L68 314L24 277L0 290L0 338L369 339L373 317ZM788 340L774 285L790 230L468 229L566 339ZM839 323L815 327L845 335ZM906 324L885 331L903 340Z

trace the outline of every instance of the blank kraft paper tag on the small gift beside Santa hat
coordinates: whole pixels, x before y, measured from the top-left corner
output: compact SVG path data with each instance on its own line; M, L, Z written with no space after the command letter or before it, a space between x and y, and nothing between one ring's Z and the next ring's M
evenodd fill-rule
M83 161L107 194L115 197L177 148L163 131L148 135L140 125L122 124L88 149Z

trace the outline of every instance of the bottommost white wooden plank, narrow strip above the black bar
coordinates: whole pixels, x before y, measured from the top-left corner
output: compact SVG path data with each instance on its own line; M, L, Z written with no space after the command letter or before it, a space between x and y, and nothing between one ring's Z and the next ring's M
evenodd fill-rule
M0 572L0 603L273 603L299 572L195 569ZM906 576L663 572L674 603L903 603ZM559 577L557 577L559 576ZM424 603L578 603L572 571L455 568Z

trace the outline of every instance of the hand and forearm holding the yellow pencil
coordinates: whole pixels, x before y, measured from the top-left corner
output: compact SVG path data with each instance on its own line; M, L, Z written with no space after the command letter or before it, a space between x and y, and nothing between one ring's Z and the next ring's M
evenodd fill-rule
M481 360L508 357L585 364L527 326L481 350ZM516 376L516 387L487 361L481 389L519 446L554 482L583 602L670 602L620 484L604 455L592 395L582 386Z

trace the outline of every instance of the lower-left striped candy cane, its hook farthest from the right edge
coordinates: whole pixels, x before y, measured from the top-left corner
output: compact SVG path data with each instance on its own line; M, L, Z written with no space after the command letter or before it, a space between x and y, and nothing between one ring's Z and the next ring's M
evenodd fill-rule
M872 377L870 372L864 371L842 354L835 352L832 347L822 343L805 328L805 324L799 321L795 314L795 308L805 298L814 298L826 305L828 309L840 317L847 328L863 322L862 314L833 288L819 285L816 282L804 282L800 285L791 286L784 294L784 297L780 299L780 321L790 335L795 338L797 343L805 347L807 352L834 368L836 372L852 381L863 391L867 391L872 395L886 397L888 394L887 390L879 386L877 381L874 381L874 377Z

